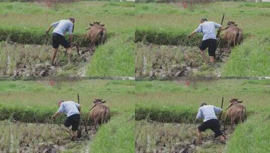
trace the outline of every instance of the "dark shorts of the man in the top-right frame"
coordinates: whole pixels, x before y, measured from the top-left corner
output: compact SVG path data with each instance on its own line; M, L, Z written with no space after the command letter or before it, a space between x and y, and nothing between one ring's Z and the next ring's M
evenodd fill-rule
M217 39L203 40L199 46L201 50L208 48L209 56L215 56L215 50L217 50Z

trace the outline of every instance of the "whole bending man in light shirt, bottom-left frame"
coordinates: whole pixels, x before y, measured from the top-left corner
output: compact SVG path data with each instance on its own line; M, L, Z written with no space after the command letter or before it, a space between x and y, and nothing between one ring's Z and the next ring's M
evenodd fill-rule
M80 123L81 106L73 101L59 101L59 110L51 117L54 120L60 113L65 113L67 119L65 121L65 129L71 134L71 140L76 140L77 130ZM72 125L72 129L69 127Z

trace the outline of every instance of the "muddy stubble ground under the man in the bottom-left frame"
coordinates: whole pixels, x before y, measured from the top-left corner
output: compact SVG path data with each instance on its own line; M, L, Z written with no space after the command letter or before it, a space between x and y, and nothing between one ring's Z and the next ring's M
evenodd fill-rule
M88 133L82 128L82 136L76 141L61 125L24 123L20 121L0 122L0 152L42 152L53 153L71 150L88 152L89 143L96 133L88 126Z

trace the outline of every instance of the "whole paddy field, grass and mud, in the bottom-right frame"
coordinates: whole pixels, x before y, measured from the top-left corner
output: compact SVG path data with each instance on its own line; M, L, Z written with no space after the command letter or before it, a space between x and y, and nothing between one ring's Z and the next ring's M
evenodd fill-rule
M187 82L189 82L187 84ZM221 78L173 78L171 81L137 81L136 152L268 152L270 135L269 81ZM227 144L203 133L196 145L195 119L202 102L225 110L231 98L239 98L247 108L246 122L232 131L222 126ZM224 119L224 116L222 117Z

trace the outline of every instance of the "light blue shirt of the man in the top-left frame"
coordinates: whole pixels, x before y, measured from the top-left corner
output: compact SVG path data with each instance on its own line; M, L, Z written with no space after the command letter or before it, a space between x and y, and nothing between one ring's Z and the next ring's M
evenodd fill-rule
M52 23L51 26L55 27L53 33L58 33L62 36L65 36L67 32L69 32L70 35L72 34L73 23L70 20L60 20Z

